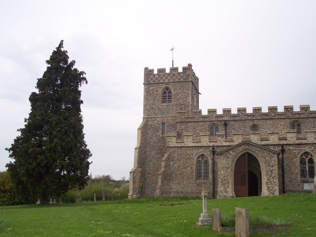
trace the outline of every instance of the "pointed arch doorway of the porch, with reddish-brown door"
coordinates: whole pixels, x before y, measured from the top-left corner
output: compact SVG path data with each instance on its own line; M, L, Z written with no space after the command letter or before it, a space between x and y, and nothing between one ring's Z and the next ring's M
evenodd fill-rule
M258 159L251 153L241 154L235 163L234 192L236 197L260 196L261 169Z

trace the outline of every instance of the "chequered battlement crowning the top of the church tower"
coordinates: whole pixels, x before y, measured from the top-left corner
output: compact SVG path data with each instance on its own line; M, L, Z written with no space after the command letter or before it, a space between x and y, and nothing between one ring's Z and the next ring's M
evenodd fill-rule
M169 73L166 73L165 68L158 68L155 74L154 69L148 69L148 67L144 68L144 84L190 80L193 81L198 88L198 78L190 63L188 66L182 67L182 72L179 72L178 67L170 68Z

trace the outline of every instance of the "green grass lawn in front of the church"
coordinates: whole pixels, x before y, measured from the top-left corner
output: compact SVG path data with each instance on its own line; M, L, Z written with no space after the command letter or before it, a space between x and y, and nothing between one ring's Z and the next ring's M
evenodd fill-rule
M174 205L170 205L173 202ZM208 213L220 208L230 219L235 207L248 208L251 216L274 223L294 222L293 227L251 234L251 237L315 237L316 195L209 199ZM0 236L107 236L107 237L234 237L197 227L202 212L198 198L141 198L81 202L78 204L0 207ZM256 219L256 218L255 218ZM251 223L250 223L251 225Z

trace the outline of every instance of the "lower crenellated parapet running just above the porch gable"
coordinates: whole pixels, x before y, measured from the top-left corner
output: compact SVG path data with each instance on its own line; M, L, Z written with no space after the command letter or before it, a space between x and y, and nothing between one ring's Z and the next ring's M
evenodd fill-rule
M278 130L268 131L268 135L262 135L260 131L250 131L249 136L243 136L241 131L234 131L232 134L226 137L225 132L218 132L215 137L210 137L209 132L200 132L199 136L194 133L183 133L181 136L170 133L166 135L166 146L233 146L246 140L260 145L306 144L314 143L316 139L316 129L306 129L304 135L298 135L296 130L292 129L287 129L285 135Z

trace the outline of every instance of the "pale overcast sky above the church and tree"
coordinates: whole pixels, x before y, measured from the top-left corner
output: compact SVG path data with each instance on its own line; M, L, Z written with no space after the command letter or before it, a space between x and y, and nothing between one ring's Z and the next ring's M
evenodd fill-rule
M81 87L92 176L129 178L144 68L188 63L200 109L316 110L316 0L1 0L0 171L30 113L45 60L64 40Z

